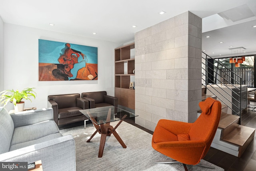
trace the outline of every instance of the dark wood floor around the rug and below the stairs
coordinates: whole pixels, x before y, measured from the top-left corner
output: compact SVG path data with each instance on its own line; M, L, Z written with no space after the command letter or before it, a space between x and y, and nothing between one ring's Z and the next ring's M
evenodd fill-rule
M256 102L251 101L252 105L256 105ZM134 119L125 119L124 121L150 133L153 134L153 131L150 131L136 123ZM90 122L90 121L89 121ZM88 121L86 122L89 123ZM69 127L75 127L83 125L84 122L76 122L64 126L59 126L60 129L66 129ZM242 112L242 123L241 125L256 128L256 111L247 111ZM242 156L235 157L218 149L210 147L210 150L204 157L204 160L213 163L219 167L222 167L225 171L256 171L256 136L254 135L254 140L250 143L247 149L244 151ZM214 171L214 170L213 170Z

